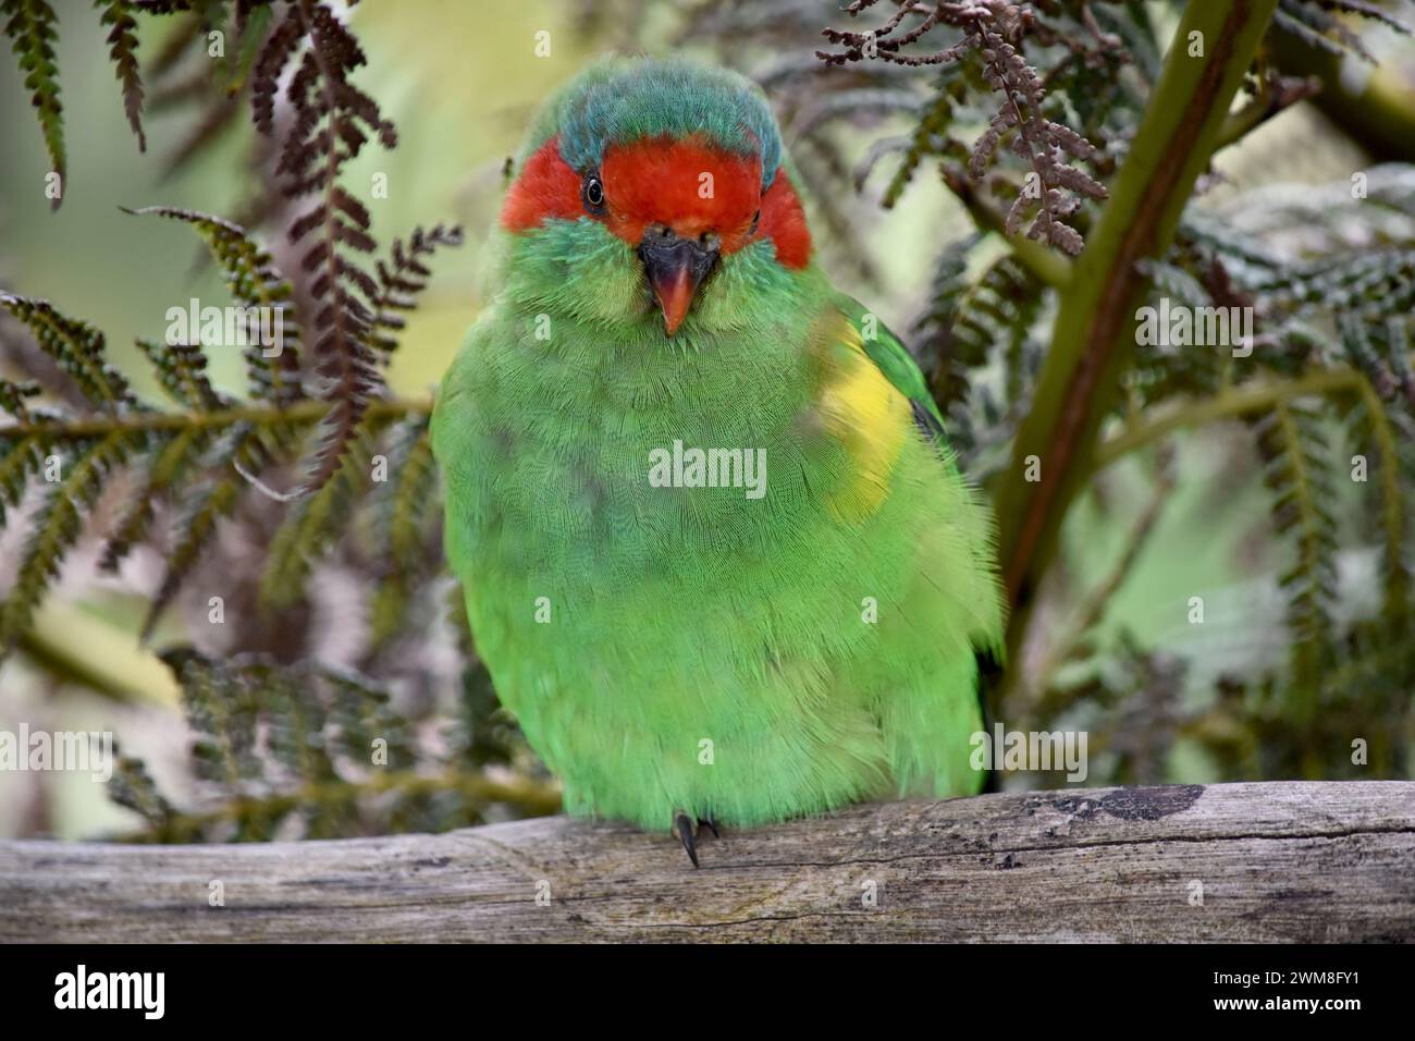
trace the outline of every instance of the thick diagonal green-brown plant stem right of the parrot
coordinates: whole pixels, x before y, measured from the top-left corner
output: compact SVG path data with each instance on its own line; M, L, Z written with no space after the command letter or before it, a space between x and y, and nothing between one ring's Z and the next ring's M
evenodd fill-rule
M1133 357L1135 309L1146 285L1139 262L1163 256L1169 248L1276 1L1184 8L1111 198L1060 293L1032 412L995 494L1013 606L1012 653L1026 630L1036 584L1056 552L1067 507L1087 476L1101 422ZM1203 41L1203 57L1190 57L1191 38ZM1027 480L1033 457L1040 462L1040 480Z

